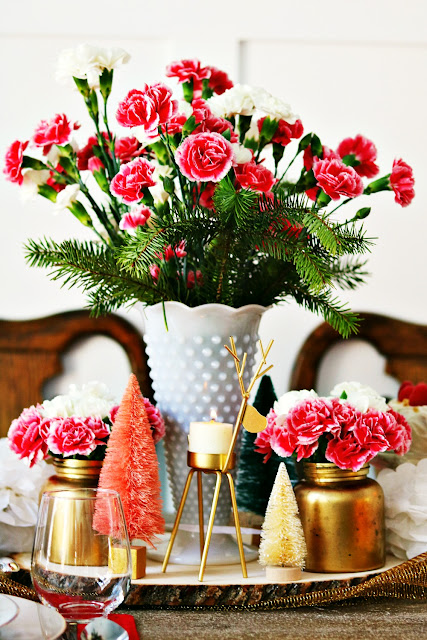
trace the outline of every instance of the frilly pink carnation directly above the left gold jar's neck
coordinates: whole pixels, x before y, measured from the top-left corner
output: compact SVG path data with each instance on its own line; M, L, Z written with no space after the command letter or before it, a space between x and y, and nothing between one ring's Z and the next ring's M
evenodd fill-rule
M50 422L47 444L53 454L65 458L74 455L88 456L98 445L106 444L97 438L96 433L104 434L105 428L94 418L54 418ZM109 431L102 437L107 435Z

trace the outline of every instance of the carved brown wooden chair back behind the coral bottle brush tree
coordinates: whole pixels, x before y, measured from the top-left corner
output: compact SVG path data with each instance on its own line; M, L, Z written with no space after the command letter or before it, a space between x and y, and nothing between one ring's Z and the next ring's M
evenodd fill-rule
M121 316L91 318L78 310L35 320L0 320L0 436L24 407L43 400L43 385L63 370L62 354L76 341L97 335L121 345L142 394L152 399L144 341Z

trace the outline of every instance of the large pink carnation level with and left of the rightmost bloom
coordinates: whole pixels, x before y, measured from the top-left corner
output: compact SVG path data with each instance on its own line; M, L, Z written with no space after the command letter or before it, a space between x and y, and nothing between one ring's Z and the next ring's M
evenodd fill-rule
M356 198L363 193L363 182L353 167L347 167L341 160L318 160L313 164L317 185L332 200L341 196Z

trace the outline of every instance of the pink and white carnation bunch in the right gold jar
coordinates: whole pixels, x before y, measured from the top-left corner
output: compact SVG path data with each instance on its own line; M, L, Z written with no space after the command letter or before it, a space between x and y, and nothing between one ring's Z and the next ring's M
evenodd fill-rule
M408 452L411 427L374 389L337 384L328 397L313 390L289 391L274 403L255 450L266 462L272 452L299 462L332 462L358 471L377 454Z

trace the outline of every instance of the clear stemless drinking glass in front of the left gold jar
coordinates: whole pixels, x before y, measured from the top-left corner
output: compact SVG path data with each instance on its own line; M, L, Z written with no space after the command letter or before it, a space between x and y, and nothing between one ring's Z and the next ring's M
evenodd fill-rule
M123 602L131 557L119 494L106 489L43 493L31 577L42 602L68 622L107 616Z

